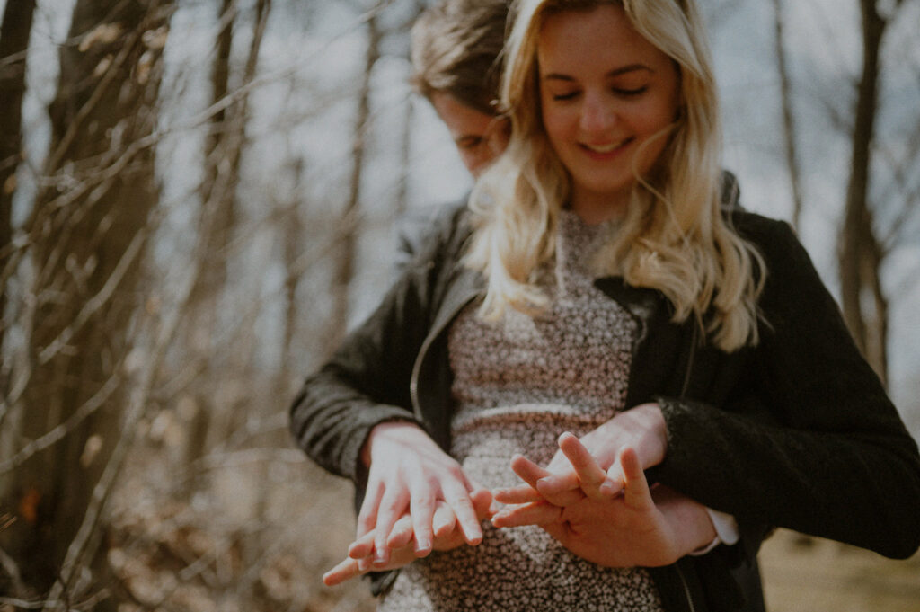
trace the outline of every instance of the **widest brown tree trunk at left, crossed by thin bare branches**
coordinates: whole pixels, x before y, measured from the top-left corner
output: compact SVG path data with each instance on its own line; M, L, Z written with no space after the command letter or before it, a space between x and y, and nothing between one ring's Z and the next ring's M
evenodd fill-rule
M61 50L45 167L55 187L40 192L26 225L30 375L15 408L23 445L58 426L67 435L17 466L4 492L18 520L0 533L23 580L40 592L58 576L119 432L158 199L151 134L169 6L78 0L70 38L79 42ZM93 402L101 407L75 420ZM83 552L86 568L101 565L94 550ZM63 593L78 595L72 584Z

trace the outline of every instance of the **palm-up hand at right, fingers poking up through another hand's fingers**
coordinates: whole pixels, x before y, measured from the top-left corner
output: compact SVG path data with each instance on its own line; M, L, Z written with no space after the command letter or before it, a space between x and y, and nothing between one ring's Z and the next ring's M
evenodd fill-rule
M575 436L564 436L560 447L582 476L600 469ZM582 494L580 501L565 506L546 500L509 506L492 524L539 525L581 559L607 567L668 565L716 537L702 504L664 486L650 490L635 450L624 448L617 458L624 477L622 495ZM512 468L532 487L549 474L523 456L512 460Z

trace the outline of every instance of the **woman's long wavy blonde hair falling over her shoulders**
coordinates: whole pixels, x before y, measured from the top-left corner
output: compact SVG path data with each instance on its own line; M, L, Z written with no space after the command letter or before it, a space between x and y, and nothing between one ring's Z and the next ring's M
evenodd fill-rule
M597 271L660 291L674 321L695 317L726 352L754 345L765 263L720 209L719 100L693 0L520 0L512 7L500 91L512 136L470 198L475 229L465 262L488 281L479 315L496 320L508 306L538 315L546 307L535 274L554 256L570 180L540 115L537 40L549 15L602 5L622 6L633 27L672 58L681 99L673 124L654 137L668 144L650 176L634 167L632 201L598 253Z

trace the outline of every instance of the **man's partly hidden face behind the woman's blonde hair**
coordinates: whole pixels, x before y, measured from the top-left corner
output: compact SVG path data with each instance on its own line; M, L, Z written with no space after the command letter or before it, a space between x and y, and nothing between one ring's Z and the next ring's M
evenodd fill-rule
M454 139L460 158L477 177L508 145L508 121L472 109L450 94L435 92L431 105Z

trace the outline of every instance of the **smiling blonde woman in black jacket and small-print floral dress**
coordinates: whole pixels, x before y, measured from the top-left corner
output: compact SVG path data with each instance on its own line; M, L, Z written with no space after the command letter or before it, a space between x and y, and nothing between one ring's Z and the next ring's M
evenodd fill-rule
M506 153L293 404L358 491L329 582L730 610L773 526L913 554L914 440L788 225L720 206L692 0L523 0L506 54Z

